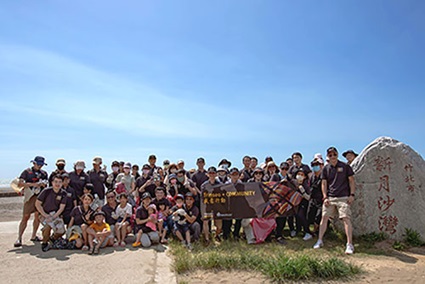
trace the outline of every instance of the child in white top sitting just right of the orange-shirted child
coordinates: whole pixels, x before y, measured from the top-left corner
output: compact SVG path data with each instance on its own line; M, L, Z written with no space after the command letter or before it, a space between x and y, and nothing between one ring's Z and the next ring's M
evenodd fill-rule
M127 236L127 227L130 225L130 219L132 212L132 207L128 203L128 196L126 193L121 193L118 196L118 200L120 204L115 209L115 219L117 222L115 223L115 237L117 238L117 242L114 243L114 247L121 246L125 247L126 243L124 241Z

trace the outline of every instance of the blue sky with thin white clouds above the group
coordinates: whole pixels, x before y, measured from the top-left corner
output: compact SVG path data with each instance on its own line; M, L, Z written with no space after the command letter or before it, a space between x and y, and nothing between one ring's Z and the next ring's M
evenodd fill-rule
M100 155L425 152L423 1L2 1L0 178Z

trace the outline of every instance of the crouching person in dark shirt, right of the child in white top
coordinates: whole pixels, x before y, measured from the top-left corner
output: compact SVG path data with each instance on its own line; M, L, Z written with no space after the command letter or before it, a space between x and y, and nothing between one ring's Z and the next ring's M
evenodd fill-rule
M142 204L137 208L136 211L136 241L133 243L133 247L150 247L152 243L159 243L159 234L153 230L152 224L156 224L157 218L154 214L149 214L152 207L152 198L149 192L145 192L142 195Z

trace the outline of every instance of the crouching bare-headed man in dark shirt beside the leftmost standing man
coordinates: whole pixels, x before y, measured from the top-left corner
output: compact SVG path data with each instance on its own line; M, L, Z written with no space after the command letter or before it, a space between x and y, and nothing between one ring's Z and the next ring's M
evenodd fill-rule
M40 221L43 224L42 251L50 249L50 235L53 231L53 240L57 240L65 234L65 225L62 220L62 212L67 200L66 191L62 189L62 177L57 175L53 178L52 187L44 189L37 197L35 208L40 213Z

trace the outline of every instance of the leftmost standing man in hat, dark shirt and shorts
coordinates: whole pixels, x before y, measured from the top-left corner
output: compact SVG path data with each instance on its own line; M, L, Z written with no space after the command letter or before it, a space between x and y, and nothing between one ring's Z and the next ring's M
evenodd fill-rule
M37 156L31 161L33 166L24 170L19 176L19 187L24 189L24 210L22 214L21 222L19 223L18 239L14 246L22 246L22 235L27 227L28 220L32 213L34 213L33 229L31 241L39 241L37 237L38 226L40 225L39 214L35 208L35 201L39 192L47 186L47 173L41 168L47 165L44 162L44 158Z

